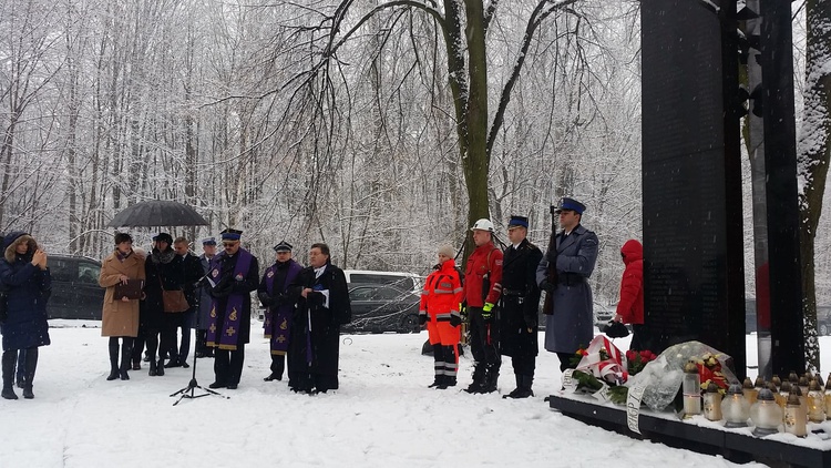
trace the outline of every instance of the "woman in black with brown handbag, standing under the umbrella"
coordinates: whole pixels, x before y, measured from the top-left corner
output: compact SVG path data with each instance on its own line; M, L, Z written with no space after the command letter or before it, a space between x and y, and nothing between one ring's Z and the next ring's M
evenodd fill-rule
M173 237L167 233L160 233L154 237L153 252L144 262L144 271L147 276L144 283L144 317L143 325L147 340L147 354L150 355L150 375L164 375L164 355L171 349L172 321L166 315L183 313L187 304L174 304L171 306L170 298L178 297L184 301L182 291L183 272L182 262L176 262L176 251L173 250ZM184 308L182 308L184 307ZM178 311L173 311L177 308ZM160 343L161 336L161 343ZM175 336L175 335L174 335ZM161 345L161 346L160 346ZM175 345L175 339L173 345ZM158 349L158 360L156 360Z

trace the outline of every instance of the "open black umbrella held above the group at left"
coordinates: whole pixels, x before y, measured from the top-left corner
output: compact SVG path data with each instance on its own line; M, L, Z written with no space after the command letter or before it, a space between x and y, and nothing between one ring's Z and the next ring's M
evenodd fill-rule
M123 210L106 225L111 227L206 226L208 222L194 208L179 202L148 200Z

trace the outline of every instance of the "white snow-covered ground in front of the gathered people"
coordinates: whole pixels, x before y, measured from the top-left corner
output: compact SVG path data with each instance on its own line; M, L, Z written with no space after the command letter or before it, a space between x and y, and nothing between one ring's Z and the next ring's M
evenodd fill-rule
M54 323L41 348L33 400L0 400L0 467L691 467L733 466L718 457L668 448L587 426L552 410L543 397L560 388L557 359L542 352L536 397L468 395L471 359L460 387L427 388L432 358L420 335L343 336L340 389L295 395L286 381L263 381L268 347L246 348L243 380L229 397L183 400L191 369L163 377L131 372L106 381L106 338L100 329ZM66 326L70 325L70 326ZM255 325L256 326L256 325ZM253 335L257 335L254 333ZM750 337L749 337L750 338ZM616 344L625 349L627 339ZM831 338L822 338L831 369ZM749 339L748 360L756 362ZM211 359L197 380L213 381ZM755 376L755 372L750 374ZM503 362L501 393L514 387ZM18 390L18 395L21 391ZM761 465L746 465L761 466Z

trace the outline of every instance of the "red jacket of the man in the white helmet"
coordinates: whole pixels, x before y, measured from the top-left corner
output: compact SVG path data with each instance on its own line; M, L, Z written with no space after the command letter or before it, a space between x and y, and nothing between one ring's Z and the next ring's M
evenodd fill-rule
M489 288L482 291L488 275ZM482 307L485 303L496 304L502 295L502 251L493 242L482 244L468 258L464 272L464 298L468 307Z

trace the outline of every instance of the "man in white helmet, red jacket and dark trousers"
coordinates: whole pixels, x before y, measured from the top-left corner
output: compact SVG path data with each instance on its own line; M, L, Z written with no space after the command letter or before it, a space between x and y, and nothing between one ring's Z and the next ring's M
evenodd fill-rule
M502 359L495 304L502 294L502 251L493 245L493 223L479 220L471 227L476 248L464 272L464 302L470 317L470 347L475 359L470 394L496 390Z

